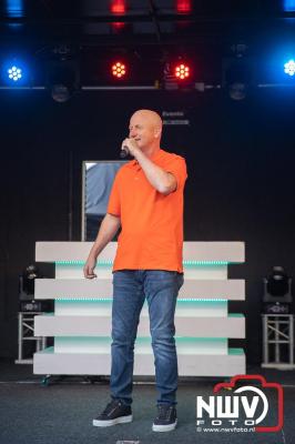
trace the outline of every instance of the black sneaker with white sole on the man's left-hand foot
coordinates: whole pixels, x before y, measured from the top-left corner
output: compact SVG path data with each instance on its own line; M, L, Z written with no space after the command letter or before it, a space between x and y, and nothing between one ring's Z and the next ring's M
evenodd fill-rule
M120 400L111 401L104 411L93 420L96 427L108 427L109 425L131 423L132 411L130 405L125 405Z

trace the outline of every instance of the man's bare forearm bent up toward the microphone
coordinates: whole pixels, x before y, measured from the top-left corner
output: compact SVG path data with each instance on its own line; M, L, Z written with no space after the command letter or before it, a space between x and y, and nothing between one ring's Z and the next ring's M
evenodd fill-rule
M173 174L154 164L141 150L136 151L135 158L149 182L160 193L169 194L176 189L176 180Z

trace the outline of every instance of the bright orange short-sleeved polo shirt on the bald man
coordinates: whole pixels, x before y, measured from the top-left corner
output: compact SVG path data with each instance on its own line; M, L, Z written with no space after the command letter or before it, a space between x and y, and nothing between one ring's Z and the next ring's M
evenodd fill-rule
M136 160L118 171L108 205L108 213L119 216L122 226L113 271L183 271L185 160L159 150L151 161L172 173L177 188L169 195L156 191Z

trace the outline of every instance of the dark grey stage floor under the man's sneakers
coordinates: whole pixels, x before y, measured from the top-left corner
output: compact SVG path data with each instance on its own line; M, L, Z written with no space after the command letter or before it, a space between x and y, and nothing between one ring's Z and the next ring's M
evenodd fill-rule
M81 377L52 380L43 386L31 365L0 361L0 444L116 444L148 443L263 443L292 444L295 435L295 372L248 367L284 390L284 427L277 433L196 432L195 397L212 395L221 379L180 381L177 428L170 433L151 430L156 390L152 382L134 384L133 422L113 427L93 427L92 418L109 402L108 381L90 384ZM121 443L120 443L121 444Z

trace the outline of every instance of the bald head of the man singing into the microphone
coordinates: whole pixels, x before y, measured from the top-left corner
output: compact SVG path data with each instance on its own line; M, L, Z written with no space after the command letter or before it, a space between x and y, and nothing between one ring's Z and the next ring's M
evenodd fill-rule
M139 110L130 119L129 137L134 139L143 151L156 151L160 148L162 119L151 110Z

